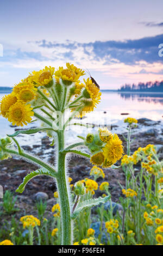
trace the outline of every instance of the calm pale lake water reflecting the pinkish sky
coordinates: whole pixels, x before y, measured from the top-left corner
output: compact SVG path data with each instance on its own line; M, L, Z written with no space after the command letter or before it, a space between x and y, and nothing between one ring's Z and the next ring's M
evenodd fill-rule
M0 100L4 94L0 94ZM106 112L104 114L104 111ZM128 113L129 115L122 115ZM93 114L93 115L92 115ZM116 93L102 92L101 103L96 111L89 114L85 122L93 123L103 122L107 116L112 125L120 125L125 117L149 118L152 120L161 120L163 115L163 94L160 93ZM34 126L35 123L29 126ZM0 136L14 132L14 128L9 126L9 122L0 117ZM77 131L78 132L78 131Z

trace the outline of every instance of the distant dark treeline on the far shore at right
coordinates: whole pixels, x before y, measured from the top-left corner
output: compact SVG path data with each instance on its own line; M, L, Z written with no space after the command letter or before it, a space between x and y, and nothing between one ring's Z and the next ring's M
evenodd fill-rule
M119 92L163 92L163 81L147 82L139 84L124 84Z

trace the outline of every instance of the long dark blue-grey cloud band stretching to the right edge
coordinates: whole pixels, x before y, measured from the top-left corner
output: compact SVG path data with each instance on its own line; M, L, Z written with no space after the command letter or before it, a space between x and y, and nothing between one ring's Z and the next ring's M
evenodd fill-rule
M160 23L161 24L161 23ZM72 51L82 48L85 55L93 60L102 60L104 65L110 63L125 63L136 64L140 61L147 63L163 62L158 56L158 46L163 43L163 34L146 37L137 40L124 40L124 41L95 41L89 43L79 43L66 41L65 43L51 42L51 41L36 41L39 47L54 48L55 51L60 49L69 50L70 53L62 53L63 56L69 57L74 60Z

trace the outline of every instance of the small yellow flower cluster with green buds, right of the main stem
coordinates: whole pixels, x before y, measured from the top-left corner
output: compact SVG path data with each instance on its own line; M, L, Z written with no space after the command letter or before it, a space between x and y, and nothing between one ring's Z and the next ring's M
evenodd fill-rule
M91 163L96 166L107 168L121 159L123 145L121 139L112 134L108 129L99 129L95 135L88 134L85 145L90 149Z

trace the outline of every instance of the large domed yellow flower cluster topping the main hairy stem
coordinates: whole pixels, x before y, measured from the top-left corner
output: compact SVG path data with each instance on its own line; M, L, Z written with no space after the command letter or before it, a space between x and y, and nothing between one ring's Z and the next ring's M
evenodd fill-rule
M82 117L86 112L93 111L101 99L99 88L90 78L84 83L79 81L83 75L82 69L70 63L66 63L65 69L59 67L57 71L52 66L33 71L15 84L11 94L3 97L0 114L17 126L27 125L34 115L39 119L37 111L49 118L54 109L61 111L67 106ZM76 102L74 105L73 101Z

